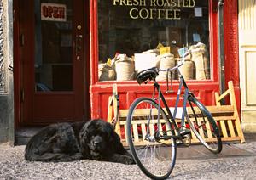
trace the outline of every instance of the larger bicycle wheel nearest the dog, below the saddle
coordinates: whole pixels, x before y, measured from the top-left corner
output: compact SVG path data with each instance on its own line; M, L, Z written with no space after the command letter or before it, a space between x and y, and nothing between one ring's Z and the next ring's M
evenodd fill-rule
M151 98L137 98L126 122L127 140L137 166L148 177L169 177L176 160L176 141L165 111Z

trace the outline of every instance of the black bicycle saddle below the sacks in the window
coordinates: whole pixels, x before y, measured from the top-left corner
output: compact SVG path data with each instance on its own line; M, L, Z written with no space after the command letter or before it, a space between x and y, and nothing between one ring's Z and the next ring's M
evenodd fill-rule
M147 84L151 80L155 80L155 77L158 76L158 72L156 68L150 68L148 70L143 70L139 72L136 76L137 83L145 83Z

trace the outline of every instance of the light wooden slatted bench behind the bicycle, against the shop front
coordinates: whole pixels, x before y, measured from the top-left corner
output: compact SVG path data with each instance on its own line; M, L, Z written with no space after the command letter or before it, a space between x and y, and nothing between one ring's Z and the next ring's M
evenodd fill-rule
M113 96L109 97L109 102L108 102L108 122L113 122L116 120L115 131L119 134L122 143L126 146L127 145L126 135L125 135L126 134L125 132L126 117L128 115L129 110L119 110L118 101L117 101L117 98L115 98L116 95L117 95L117 87L113 86ZM227 97L228 95L230 97L230 104L221 105L220 104L221 100ZM222 141L224 142L236 141L236 142L244 143L245 138L241 130L241 121L239 118L239 114L237 112L233 82L229 82L229 89L225 91L222 95L215 93L215 99L216 99L216 105L207 106L207 110L209 110L212 113L213 118L218 123L218 127L220 127ZM140 109L134 115L139 118L139 116L142 116L147 111L148 109ZM187 111L188 111L188 114L192 113L190 108L188 108ZM195 110L195 112L199 112L199 110ZM155 110L153 113L156 115L157 110ZM164 128L165 121L164 120L160 120L160 121L162 125L162 127L160 128ZM177 123L180 123L179 119L177 119L176 121ZM146 133L146 130L145 130L146 123L147 121L136 121L132 124L133 133L134 133L135 141L137 145L141 145L144 143L143 137ZM201 136L204 136L202 132L201 132ZM210 136L207 136L207 138L210 138ZM191 143L198 143L198 142L199 142L198 139L195 137L195 134L192 132Z

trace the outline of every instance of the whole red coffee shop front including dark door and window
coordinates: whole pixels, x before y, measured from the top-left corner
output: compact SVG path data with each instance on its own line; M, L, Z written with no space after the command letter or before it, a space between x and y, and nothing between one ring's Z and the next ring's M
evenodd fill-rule
M121 109L128 109L137 97L151 96L150 84L138 85L134 75L129 80L119 78L121 72L114 67L113 79L99 81L99 65L107 61L113 65L117 53L126 54L134 60L136 73L137 57L159 44L171 47L169 53L175 59L180 48L204 44L207 76L199 78L194 74L188 85L202 103L214 104L214 93L219 92L221 82L219 2L15 1L15 126L84 121L90 117L106 119L113 84L118 86ZM236 100L240 102L236 1L224 2L223 27L223 79L226 85L230 80L234 82ZM148 56L157 59L159 54ZM165 87L166 81L160 84ZM174 95L166 96L170 105Z

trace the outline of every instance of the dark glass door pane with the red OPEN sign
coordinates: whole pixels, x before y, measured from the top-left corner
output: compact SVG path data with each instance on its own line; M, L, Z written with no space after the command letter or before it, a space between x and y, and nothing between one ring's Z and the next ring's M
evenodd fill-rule
M35 89L72 91L72 1L37 0L35 17Z

